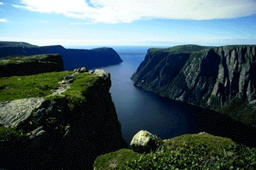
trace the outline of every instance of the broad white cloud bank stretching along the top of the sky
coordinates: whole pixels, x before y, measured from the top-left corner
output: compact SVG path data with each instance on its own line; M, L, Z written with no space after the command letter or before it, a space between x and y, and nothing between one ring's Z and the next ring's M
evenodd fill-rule
M230 19L256 14L254 0L20 0L20 4L14 6L104 23Z

